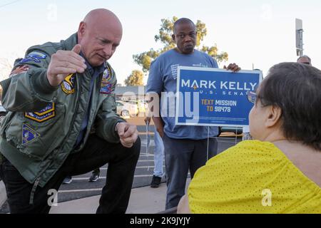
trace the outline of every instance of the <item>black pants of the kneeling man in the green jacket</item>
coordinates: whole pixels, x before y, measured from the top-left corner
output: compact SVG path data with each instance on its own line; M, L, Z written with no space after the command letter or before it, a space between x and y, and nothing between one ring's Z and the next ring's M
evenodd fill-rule
M121 143L113 144L91 135L80 152L67 157L61 168L44 187L37 187L34 204L29 204L32 184L20 175L18 170L4 159L0 165L0 176L6 186L6 194L11 213L49 213L49 190L59 189L66 176L81 175L108 163L106 185L96 213L125 213L133 175L141 150L141 140L133 147L126 148Z

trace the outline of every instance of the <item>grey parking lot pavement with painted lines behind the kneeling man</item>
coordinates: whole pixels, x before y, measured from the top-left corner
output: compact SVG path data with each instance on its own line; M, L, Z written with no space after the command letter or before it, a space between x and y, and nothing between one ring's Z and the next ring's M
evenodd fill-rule
M138 131L141 137L141 155L136 166L135 176L133 180L133 188L148 186L151 183L153 177L153 133L151 133L150 147L146 152L146 126L138 126ZM218 152L222 152L239 142L240 138L218 138ZM164 162L165 165L165 162ZM97 182L88 182L88 178L91 176L91 172L84 175L78 175L73 177L73 181L68 185L61 185L58 190L58 202L66 202L73 199L81 199L85 197L91 197L101 194L101 189L106 182L106 172L108 165L101 167L101 177ZM164 167L165 169L165 167ZM162 182L165 182L163 178ZM7 213L9 209L6 203L0 208L0 213Z

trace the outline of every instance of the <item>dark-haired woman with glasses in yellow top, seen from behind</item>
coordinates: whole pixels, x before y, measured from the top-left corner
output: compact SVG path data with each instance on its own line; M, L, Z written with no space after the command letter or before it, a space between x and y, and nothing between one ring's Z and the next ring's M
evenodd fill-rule
M195 173L178 212L321 213L321 71L280 63L247 98L250 134Z

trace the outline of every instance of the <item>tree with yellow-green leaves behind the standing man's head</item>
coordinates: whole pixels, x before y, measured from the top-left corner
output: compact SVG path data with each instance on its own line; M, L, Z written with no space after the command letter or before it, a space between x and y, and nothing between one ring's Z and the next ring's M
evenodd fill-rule
M149 51L145 51L143 53L133 55L133 60L135 61L135 63L137 63L139 66L142 67L143 72L146 73L149 71L151 62L155 58L160 56L161 53L164 53L165 51L175 48L175 42L173 41L173 38L171 35L173 33L174 23L177 20L178 20L178 17L176 16L173 16L173 19L161 19L161 22L162 22L161 28L159 30L158 35L156 35L154 38L156 42L159 41L163 43L163 48L157 51L151 48ZM216 46L216 44L214 44L214 46L204 46L204 45L200 46L200 43L204 40L204 37L207 34L207 29L205 24L200 20L197 21L195 26L196 26L196 31L198 33L195 48L200 51L204 51L205 53L208 53L208 55L215 58L215 60L218 61L218 63L222 61L228 61L228 53L226 52L218 53L218 47Z

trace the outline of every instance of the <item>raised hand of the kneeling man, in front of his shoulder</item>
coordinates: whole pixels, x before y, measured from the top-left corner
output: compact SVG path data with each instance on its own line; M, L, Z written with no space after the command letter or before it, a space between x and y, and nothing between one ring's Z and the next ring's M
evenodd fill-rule
M71 73L83 73L87 68L85 59L79 56L81 45L76 44L71 51L59 50L51 56L47 78L51 86L59 86Z

